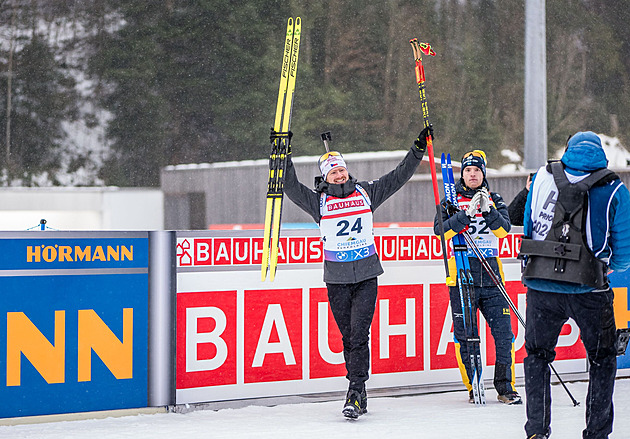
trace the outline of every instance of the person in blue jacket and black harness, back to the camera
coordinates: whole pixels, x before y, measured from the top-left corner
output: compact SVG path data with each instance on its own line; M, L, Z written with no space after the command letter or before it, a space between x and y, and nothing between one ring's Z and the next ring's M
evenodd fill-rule
M575 320L589 361L583 438L608 438L617 371L611 271L630 266L630 194L606 168L600 138L572 136L560 162L536 173L525 205L524 360L530 439L549 437L550 368L562 326Z

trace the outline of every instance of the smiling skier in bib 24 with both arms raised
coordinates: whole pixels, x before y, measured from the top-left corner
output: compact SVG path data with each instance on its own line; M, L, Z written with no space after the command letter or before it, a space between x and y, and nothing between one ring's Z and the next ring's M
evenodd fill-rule
M393 171L378 180L358 182L348 173L340 153L319 158L321 177L311 190L300 183L289 156L285 193L317 224L324 243L324 282L343 340L348 393L344 416L367 412L365 382L370 366L369 335L377 295L377 276L383 274L374 245L372 212L414 174L427 148L428 126Z

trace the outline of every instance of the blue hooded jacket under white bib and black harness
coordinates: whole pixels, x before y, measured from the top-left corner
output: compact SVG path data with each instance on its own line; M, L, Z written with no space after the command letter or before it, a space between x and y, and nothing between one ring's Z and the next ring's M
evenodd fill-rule
M568 174L587 175L608 166L599 137L592 131L579 132L569 140L562 163ZM547 172L545 167L538 173ZM523 233L532 236L532 227L538 212L532 212L532 193L538 190L536 177L525 204ZM620 180L611 181L589 190L589 221L586 224L588 245L595 256L605 261L614 271L630 267L630 193ZM526 279L527 287L556 293L585 293L592 287L543 279Z

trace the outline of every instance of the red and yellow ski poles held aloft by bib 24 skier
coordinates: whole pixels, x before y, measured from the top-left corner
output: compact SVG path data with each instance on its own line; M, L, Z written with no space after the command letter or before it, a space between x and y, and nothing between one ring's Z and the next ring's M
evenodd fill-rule
M424 92L424 66L422 65L422 53L430 56L435 56L435 52L426 43L418 42L417 38L409 40L411 48L413 49L413 56L416 60L416 81L418 82L418 91L420 92L420 106L422 108L422 120L424 127L428 127L429 123L429 106L427 104L427 97ZM455 279L451 277L450 270L448 268L448 256L446 255L446 240L444 239L444 221L442 219L442 207L440 206L440 192L437 186L437 174L435 172L435 155L433 153L433 138L430 133L427 133L427 152L429 153L429 168L431 169L431 182L433 184L433 198L435 198L435 210L438 217L438 226L440 229L440 243L442 244L442 257L444 259L444 270L446 270L446 285L455 286Z

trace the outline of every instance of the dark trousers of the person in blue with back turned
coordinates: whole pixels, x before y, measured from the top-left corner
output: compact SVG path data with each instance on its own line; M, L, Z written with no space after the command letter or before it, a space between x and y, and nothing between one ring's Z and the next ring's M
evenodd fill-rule
M612 432L612 395L617 373L616 327L613 293L560 294L527 290L525 330L525 391L527 393L527 436L546 433L551 424L551 372L549 363L562 325L571 317L589 361L586 396L586 429L583 438L604 439Z

